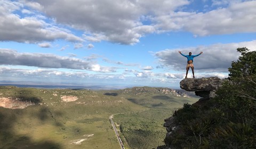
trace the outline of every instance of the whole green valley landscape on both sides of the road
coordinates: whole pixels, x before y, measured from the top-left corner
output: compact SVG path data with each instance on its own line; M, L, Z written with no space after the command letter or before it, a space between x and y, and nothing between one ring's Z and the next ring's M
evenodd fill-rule
M114 121L124 126L126 148L153 148L163 144L163 119L183 103L195 102L150 93L104 95L107 92L0 87L0 97L42 103L16 110L0 107L0 148L119 148L108 119L115 113L124 113L115 115ZM78 100L62 102L61 95ZM71 144L76 139L86 140Z

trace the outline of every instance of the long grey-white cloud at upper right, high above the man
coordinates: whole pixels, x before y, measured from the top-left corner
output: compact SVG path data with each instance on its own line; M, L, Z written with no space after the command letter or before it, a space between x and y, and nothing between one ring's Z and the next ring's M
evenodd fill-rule
M210 12L179 11L155 16L153 20L159 32L185 30L199 36L256 32L256 22L250 21L256 19L255 7L256 1L237 2Z

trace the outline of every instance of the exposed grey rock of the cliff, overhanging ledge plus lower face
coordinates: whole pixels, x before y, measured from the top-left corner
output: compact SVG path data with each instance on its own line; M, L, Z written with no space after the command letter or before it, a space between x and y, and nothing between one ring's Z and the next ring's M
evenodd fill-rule
M180 88L185 89L189 92L195 92L197 96L202 97L195 104L200 106L201 101L210 100L216 96L215 92L222 85L225 79L220 79L218 77L209 77L209 78L198 78L198 79L183 79L180 81ZM166 136L164 139L164 146L158 146L157 149L170 149L172 143L170 138L172 137L173 131L180 131L179 125L174 122L175 117L170 117L165 119L164 127L166 127Z

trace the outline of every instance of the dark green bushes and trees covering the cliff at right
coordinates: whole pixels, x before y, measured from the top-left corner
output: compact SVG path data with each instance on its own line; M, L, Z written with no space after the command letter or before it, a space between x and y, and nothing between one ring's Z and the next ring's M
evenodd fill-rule
M228 80L217 97L198 104L184 104L175 122L180 129L165 143L173 148L255 148L256 51L241 53L231 63Z

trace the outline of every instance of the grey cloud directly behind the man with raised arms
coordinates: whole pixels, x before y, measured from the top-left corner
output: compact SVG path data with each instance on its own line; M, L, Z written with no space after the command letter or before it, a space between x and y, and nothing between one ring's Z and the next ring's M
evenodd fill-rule
M178 53L192 55L203 52L202 55L194 58L194 65L196 70L227 72L231 67L231 62L236 61L240 55L236 49L238 47L247 47L249 49L256 49L256 40L252 42L231 43L231 44L214 44L210 46L198 46L179 49L165 49L155 53L159 63L164 67L171 67L175 70L184 70L186 68L187 58Z

